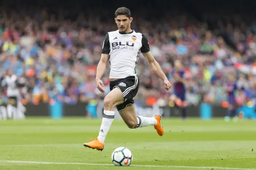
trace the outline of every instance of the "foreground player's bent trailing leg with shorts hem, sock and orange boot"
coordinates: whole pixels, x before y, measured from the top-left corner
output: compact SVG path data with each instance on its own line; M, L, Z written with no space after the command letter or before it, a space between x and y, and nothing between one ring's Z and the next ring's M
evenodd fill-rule
M160 124L161 116L155 115L154 117L136 116L134 101L126 100L125 103L117 106L117 110L124 120L125 124L131 129L145 126L154 126L159 136L163 135L163 127Z

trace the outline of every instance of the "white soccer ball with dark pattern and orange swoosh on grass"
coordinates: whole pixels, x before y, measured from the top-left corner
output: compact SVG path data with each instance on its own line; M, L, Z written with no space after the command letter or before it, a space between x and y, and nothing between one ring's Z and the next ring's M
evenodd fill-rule
M111 158L116 166L129 166L132 163L132 153L126 147L118 147L115 149Z

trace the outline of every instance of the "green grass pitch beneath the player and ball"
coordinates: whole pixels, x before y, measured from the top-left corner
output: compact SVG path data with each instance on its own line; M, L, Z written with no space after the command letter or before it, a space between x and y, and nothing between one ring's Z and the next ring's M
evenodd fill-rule
M153 126L129 129L122 120L114 120L102 152L85 148L84 142L98 136L100 124L100 119L82 117L0 121L0 169L256 170L252 120L163 118L162 137ZM121 146L132 151L132 166L112 165L111 154Z

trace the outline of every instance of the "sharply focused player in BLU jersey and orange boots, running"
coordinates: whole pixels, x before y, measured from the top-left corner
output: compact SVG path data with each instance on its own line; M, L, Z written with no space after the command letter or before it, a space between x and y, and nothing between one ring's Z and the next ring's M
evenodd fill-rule
M136 74L136 66L140 52L148 60L149 66L163 80L166 90L171 84L158 62L150 52L148 40L141 33L131 28L131 12L128 8L121 7L115 12L117 31L108 32L103 42L101 60L98 63L96 84L99 91L104 93L101 80L106 64L110 64L110 92L104 98L104 111L102 124L98 138L84 143L85 147L103 150L106 135L114 120L114 107L116 106L124 122L131 129L153 125L159 136L163 135L163 127L160 124L161 116L147 118L136 116L133 97L139 88L139 78Z

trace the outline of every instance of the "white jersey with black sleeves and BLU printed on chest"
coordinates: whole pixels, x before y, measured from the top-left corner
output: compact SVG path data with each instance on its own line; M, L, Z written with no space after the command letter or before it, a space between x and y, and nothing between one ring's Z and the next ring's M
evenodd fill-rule
M108 54L110 79L121 79L137 75L136 66L140 52L150 51L148 40L141 33L108 32L102 47L102 54Z

